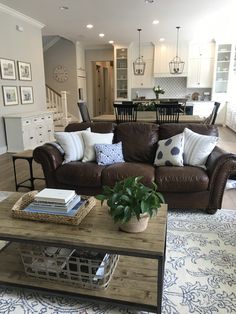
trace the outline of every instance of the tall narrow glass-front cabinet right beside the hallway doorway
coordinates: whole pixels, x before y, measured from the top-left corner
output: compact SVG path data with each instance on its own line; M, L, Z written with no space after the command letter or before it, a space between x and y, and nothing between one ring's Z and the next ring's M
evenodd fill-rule
M116 99L128 98L128 48L116 49Z

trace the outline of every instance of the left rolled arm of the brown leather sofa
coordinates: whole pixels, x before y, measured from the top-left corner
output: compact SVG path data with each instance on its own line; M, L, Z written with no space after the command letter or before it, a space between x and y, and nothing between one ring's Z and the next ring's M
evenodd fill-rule
M48 188L56 188L55 170L62 165L63 154L53 145L44 144L33 151L34 160L41 164Z

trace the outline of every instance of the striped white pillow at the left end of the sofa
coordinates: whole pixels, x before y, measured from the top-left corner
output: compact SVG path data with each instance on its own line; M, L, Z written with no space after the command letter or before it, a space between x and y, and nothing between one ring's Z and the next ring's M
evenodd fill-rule
M83 131L54 133L56 141L61 145L65 152L63 161L64 164L70 161L81 160L83 158L84 141L82 134L90 132L91 129L88 128Z

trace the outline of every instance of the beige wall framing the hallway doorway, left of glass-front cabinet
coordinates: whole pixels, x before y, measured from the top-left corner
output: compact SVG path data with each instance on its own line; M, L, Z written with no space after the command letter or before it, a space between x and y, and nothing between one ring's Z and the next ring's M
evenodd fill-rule
M93 116L93 68L92 61L113 61L114 50L111 49L93 49L85 51L85 68L87 72L87 103L91 116Z

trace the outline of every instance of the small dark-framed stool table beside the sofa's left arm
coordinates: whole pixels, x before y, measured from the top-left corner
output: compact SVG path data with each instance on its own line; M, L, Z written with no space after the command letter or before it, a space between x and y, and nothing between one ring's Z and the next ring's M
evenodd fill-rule
M30 176L28 179L21 181L21 182L17 182L17 176L16 176L16 160L17 159L23 159L26 160L29 164L29 172L30 172ZM14 155L12 155L12 161L13 161L13 169L14 169L14 176L15 176L15 187L16 187L16 191L18 191L18 189L20 187L24 187L24 188L28 188L30 190L34 190L34 180L45 180L44 178L36 178L34 177L33 174L33 151L32 150L25 150L23 152L20 153L16 153ZM30 185L25 185L24 183L30 181Z

